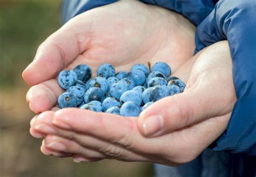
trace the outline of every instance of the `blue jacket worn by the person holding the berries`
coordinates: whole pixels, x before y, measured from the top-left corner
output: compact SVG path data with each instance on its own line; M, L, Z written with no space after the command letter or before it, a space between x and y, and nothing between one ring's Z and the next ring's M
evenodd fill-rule
M256 155L256 1L141 1L174 10L197 25L196 52L217 41L228 40L238 101L227 130L212 148L215 151ZM113 2L116 0L64 0L63 22L86 10Z

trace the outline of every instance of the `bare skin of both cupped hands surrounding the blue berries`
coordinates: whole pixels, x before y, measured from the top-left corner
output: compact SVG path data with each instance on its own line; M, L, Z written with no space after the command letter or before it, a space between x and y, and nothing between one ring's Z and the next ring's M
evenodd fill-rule
M42 112L31 120L30 129L32 136L44 138L41 151L77 162L117 159L175 166L196 158L225 131L236 97L227 43L191 58L193 36L194 26L183 17L139 2L114 3L70 20L46 39L23 73L34 85L26 97L30 109ZM53 78L64 67L86 63L96 71L110 62L119 71L147 61L169 63L173 75L187 82L184 93L154 103L139 118L55 108L63 90ZM148 133L150 126L144 126L157 112L166 123L166 128L161 124L163 136Z

